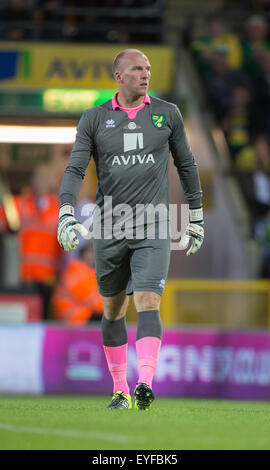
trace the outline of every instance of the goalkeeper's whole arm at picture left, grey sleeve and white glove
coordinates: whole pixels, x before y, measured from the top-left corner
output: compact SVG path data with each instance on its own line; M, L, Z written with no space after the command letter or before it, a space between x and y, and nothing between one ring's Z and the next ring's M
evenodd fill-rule
M69 164L65 170L59 200L59 223L57 239L65 251L75 250L79 240L76 232L86 237L88 232L74 217L74 206L81 188L85 170L93 151L93 137L89 119L84 113L77 127L76 141L73 146Z

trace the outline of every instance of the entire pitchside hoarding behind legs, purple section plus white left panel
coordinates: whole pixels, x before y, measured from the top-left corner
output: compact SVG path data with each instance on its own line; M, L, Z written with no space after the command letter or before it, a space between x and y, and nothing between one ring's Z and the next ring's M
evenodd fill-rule
M127 378L138 380L136 328ZM153 381L157 396L270 399L270 334L170 329ZM0 392L111 395L100 327L0 326Z

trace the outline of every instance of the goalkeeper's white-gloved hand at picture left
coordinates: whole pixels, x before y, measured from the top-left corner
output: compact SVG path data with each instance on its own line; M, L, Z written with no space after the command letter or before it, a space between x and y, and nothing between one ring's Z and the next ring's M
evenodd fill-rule
M79 244L78 232L83 237L88 235L86 228L74 217L74 207L64 204L60 207L57 239L65 251L75 250Z

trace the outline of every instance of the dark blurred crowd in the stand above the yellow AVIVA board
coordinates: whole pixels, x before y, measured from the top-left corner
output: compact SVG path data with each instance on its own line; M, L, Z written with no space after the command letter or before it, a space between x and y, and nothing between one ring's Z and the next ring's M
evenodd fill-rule
M110 43L161 40L163 0L9 0L2 3L2 40ZM112 8L117 9L114 16L110 13Z

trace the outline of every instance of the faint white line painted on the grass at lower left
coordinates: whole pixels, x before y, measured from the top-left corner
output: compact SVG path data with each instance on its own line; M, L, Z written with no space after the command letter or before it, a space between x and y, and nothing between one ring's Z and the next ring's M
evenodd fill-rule
M15 426L13 424L0 423L0 429L4 431L14 432L29 432L33 434L48 434L61 437L75 437L79 439L104 439L106 441L115 442L134 442L142 441L142 438L129 437L123 434L110 434L106 432L85 432L76 429L51 429L51 428L38 428L33 426Z

